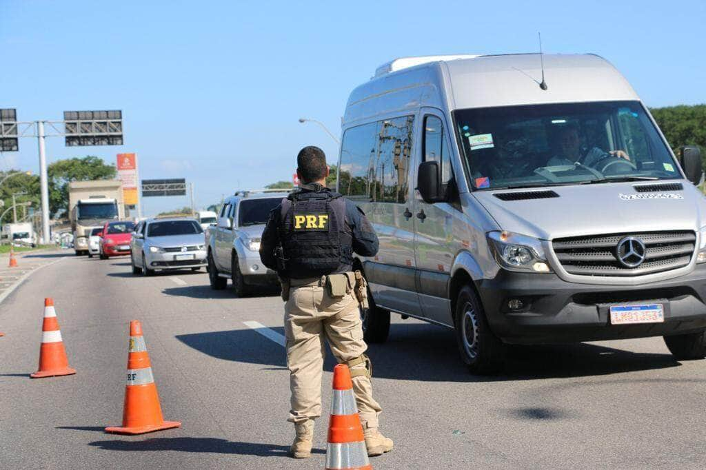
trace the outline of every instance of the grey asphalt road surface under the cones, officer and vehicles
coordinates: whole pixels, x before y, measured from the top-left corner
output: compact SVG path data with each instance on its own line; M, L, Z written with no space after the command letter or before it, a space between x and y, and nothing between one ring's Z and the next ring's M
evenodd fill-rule
M279 297L234 299L211 291L203 272L129 270L124 258L61 258L0 303L0 466L323 468L328 415L313 457L286 457L293 429L284 348L273 341L282 335ZM78 373L31 380L45 296ZM182 428L103 433L121 421L131 319L143 322L164 418ZM388 343L370 349L383 432L395 440L373 466L706 464L706 363L674 361L661 338L515 348L505 375L477 378L457 360L453 332L394 319ZM272 339L251 322L271 327L261 331ZM329 358L325 410L332 368Z

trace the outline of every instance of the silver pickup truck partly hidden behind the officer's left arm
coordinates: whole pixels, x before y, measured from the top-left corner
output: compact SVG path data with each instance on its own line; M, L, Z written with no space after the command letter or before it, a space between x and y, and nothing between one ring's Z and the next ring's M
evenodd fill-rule
M205 232L211 289L232 279L239 297L277 285L277 274L260 261L260 239L270 211L287 197L284 190L237 191L223 203L216 223Z

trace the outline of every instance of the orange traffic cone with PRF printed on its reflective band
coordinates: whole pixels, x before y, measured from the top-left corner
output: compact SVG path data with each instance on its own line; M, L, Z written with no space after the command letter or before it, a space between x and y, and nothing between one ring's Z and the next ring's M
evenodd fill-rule
M179 428L177 421L164 421L155 378L152 377L150 356L138 320L130 322L128 344L128 383L125 387L123 426L105 428L107 433L144 434L152 431Z

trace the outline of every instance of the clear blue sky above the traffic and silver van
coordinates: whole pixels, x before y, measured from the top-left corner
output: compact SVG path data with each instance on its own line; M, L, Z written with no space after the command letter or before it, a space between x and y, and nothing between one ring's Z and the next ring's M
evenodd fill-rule
M398 56L594 52L650 107L706 102L706 1L0 0L0 108L23 121L122 109L125 145L64 147L49 162L137 152L140 177L193 181L205 207L291 179L318 145L330 163L349 92ZM0 156L38 171L37 143ZM187 198L145 198L147 215Z

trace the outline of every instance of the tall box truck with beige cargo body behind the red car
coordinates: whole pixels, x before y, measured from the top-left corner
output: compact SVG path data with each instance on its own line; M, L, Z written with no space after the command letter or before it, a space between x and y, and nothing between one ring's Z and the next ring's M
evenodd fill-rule
M125 218L121 181L68 183L68 214L73 231L73 249L76 255L88 254L88 238L93 227Z

